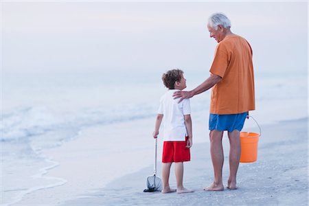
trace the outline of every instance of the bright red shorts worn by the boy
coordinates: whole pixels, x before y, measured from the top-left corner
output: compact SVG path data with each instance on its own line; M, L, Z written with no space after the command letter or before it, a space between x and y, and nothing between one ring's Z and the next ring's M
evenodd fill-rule
M164 141L162 162L182 162L190 161L190 148L187 146L187 137L185 141Z

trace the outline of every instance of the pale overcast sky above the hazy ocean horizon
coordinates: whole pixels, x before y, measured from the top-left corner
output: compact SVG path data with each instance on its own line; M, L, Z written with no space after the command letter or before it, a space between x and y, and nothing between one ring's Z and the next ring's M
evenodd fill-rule
M2 71L209 69L208 16L223 12L259 71L307 71L307 2L1 4Z

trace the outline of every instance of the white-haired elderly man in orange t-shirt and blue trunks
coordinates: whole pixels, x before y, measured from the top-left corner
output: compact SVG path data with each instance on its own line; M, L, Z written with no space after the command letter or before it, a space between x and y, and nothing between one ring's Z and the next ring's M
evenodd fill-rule
M252 49L249 43L231 32L231 21L225 14L212 14L208 20L210 37L218 42L211 75L192 91L177 91L180 101L211 89L209 138L214 182L204 190L224 190L222 183L222 135L229 137L229 179L227 188L235 190L240 161L240 130L249 111L255 109Z

